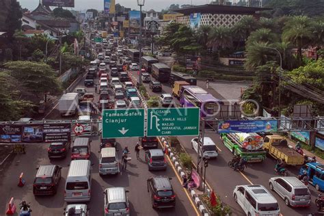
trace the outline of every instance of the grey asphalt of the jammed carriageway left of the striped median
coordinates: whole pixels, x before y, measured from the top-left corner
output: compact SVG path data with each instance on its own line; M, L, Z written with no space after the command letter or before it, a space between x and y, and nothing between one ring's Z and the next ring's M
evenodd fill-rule
M77 87L83 86L83 79ZM87 87L87 92L94 93L94 87ZM98 94L95 94L95 101L98 101ZM96 118L97 116L92 116ZM59 116L57 107L51 111L50 119L62 119ZM77 117L75 117L77 118ZM129 146L131 157L133 158L127 166L127 170L121 172L117 176L99 176L98 174L98 151L100 150L100 142L98 137L92 137L90 160L92 166L92 198L88 204L90 207L90 215L103 215L103 191L107 187L126 187L129 190L129 201L131 215L197 215L195 206L191 205L189 196L183 189L180 178L167 160L168 167L166 171L148 171L148 166L144 160L144 151L141 150L141 159L135 158L135 144L137 138L117 139L118 156L121 158L122 148ZM0 178L0 215L5 212L11 197L15 198L15 204L18 205L21 200L31 202L33 209L32 215L62 215L63 208L66 206L64 202L64 185L68 174L68 165L70 163L70 154L66 159L49 160L47 157L47 148L49 144L30 144L27 146L27 153L14 157L14 161L9 165L2 178ZM161 147L160 147L161 148ZM33 195L33 178L36 175L36 168L39 165L57 164L62 168L62 179L56 195L39 196ZM120 164L120 168L121 168ZM18 187L18 176L24 172L26 185ZM172 177L172 186L176 193L176 208L155 210L152 208L150 198L147 192L146 180L149 176L163 175Z

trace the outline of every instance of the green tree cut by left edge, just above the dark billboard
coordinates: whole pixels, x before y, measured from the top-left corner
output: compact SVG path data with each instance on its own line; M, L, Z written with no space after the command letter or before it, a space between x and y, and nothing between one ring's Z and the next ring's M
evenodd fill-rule
M32 105L20 99L19 82L8 72L0 72L0 121L17 120Z

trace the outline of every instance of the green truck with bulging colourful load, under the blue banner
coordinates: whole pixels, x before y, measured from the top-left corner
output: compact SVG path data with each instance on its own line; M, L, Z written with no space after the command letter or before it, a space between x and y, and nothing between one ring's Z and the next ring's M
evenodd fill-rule
M263 139L256 133L221 133L224 145L247 162L261 162L267 157L262 149Z

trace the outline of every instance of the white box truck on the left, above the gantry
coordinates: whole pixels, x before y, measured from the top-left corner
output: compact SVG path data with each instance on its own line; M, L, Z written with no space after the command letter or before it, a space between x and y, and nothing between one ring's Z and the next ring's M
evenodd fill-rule
M79 105L78 93L66 93L59 99L59 113L61 116L74 116Z

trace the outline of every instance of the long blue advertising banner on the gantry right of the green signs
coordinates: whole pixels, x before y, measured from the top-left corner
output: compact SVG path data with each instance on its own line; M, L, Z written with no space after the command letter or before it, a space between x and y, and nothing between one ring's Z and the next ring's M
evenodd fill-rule
M219 133L260 133L277 131L277 120L226 120L219 121Z

